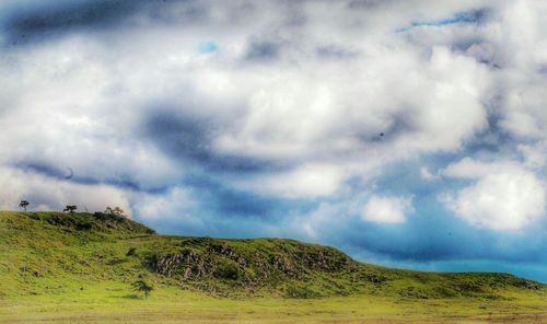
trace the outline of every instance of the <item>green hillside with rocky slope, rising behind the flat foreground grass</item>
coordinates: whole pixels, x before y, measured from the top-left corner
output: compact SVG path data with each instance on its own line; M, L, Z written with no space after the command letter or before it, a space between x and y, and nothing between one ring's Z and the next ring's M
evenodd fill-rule
M547 305L544 284L509 274L389 269L294 240L159 235L105 213L0 212L0 306L63 296L73 301L97 287L138 299L131 284L142 278L153 282L153 294L172 291L173 298L531 298Z

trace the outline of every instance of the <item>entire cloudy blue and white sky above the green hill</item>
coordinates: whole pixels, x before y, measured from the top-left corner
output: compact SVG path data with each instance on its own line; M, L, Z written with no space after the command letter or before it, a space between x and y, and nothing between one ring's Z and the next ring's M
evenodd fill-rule
M547 1L0 2L0 209L547 281Z

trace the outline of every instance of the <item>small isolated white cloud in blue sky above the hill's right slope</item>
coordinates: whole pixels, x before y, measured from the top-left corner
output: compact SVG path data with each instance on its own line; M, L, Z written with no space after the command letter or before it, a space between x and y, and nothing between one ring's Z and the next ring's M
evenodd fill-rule
M363 220L380 223L404 223L407 215L412 213L412 199L408 197L372 196L364 206Z

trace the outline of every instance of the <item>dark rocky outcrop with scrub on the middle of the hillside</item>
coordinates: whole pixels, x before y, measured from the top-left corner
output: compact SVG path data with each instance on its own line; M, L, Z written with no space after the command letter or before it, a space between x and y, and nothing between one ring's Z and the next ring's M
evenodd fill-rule
M183 240L179 245L177 252L150 255L146 264L154 273L176 278L182 285L195 284L195 287L203 282L248 289L278 287L319 273L352 271L358 267L336 248L296 241L265 240L261 244L256 241L245 244L245 241L194 238ZM201 290L211 290L211 285L205 285Z

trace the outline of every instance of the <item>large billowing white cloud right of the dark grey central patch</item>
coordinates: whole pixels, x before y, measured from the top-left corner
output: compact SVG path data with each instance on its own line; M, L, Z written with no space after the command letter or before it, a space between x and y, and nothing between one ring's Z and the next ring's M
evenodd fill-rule
M385 162L457 149L486 126L484 67L446 47L434 47L423 59L408 44L392 42L370 45L344 65L305 57L298 67L263 68L267 78L247 71L256 83L245 94L248 109L237 127L219 136L217 149L307 163L340 154L375 160L385 150ZM345 69L352 73L341 73ZM384 143L371 143L381 132Z

